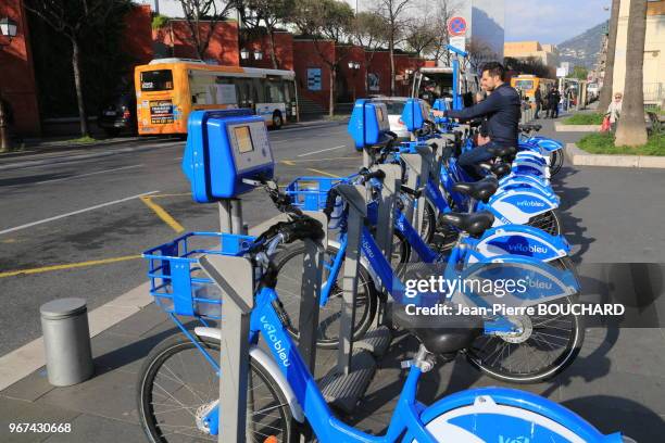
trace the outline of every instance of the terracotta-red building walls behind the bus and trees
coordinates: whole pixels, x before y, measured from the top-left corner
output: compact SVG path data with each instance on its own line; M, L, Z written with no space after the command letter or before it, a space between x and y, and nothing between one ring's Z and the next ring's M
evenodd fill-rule
M2 16L9 16L18 24L18 35L9 46L0 49L0 93L9 102L14 116L12 130L22 135L38 135L42 126L39 94L23 1L2 0ZM136 63L165 56L198 59L189 38L188 24L184 20L171 20L163 27L153 29L150 7L135 5L125 17L125 24L123 49ZM202 23L201 27L202 33L208 33L210 23ZM7 43L0 41L3 42ZM221 22L215 26L205 60L222 65L273 68L272 48L275 50L277 68L296 72L302 101L315 103L321 111L329 106L332 66L336 66L337 73L336 102L350 103L367 94L390 94L390 59L387 51L369 53L360 47L298 38L284 30L274 33L273 39L266 35L247 39L239 35L235 21ZM409 73L426 64L425 60L410 54L396 54L396 94L407 96Z

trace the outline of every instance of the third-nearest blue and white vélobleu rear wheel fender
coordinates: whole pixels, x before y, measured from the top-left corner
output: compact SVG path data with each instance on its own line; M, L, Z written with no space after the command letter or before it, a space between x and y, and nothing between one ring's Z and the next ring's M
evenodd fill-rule
M481 257L468 254L466 264L506 254L551 262L568 255L570 246L562 236L552 236L526 225L504 225L487 230L476 243L475 251Z

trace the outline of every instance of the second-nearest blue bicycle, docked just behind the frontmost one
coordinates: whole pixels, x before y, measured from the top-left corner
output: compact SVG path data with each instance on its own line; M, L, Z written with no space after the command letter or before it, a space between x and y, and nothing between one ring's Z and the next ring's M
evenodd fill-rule
M376 181L377 173L361 173L356 182ZM308 177L305 180L313 180ZM296 191L296 204L303 204L306 200L318 204L325 202L329 214L332 213L331 204L336 201L337 189L330 179L322 179L319 189L327 191L305 190ZM337 180L339 181L339 179ZM311 182L311 181L310 181ZM330 189L328 189L330 187ZM273 200L285 200L288 195L278 197L276 186L272 187ZM311 188L310 188L311 189ZM398 206L400 206L398 204ZM398 279L400 268L400 255L406 251L414 251L426 264L442 266L448 273L455 269L467 269L474 264L488 263L492 260L505 260L506 262L526 260L528 263L540 263L542 257L534 254L515 255L510 250L518 246L528 249L528 236L530 227L523 227L524 231L506 236L503 240L501 232L490 229L493 217L489 213L454 214L443 216L444 220L459 231L454 246L446 253L432 250L426 244L410 220L400 208L394 215L393 243L399 253L394 260L388 261L373 238L373 226L377 221L376 205L371 202L368 207L367 225L362 232L362 258L359 266L357 296L355 301L355 316L353 334L355 340L362 340L378 313L380 301L387 300L388 295L396 298L399 291L392 291L390 284L382 284L385 291L380 291L380 282L393 282ZM324 263L324 286L319 300L319 324L317 328L316 344L324 349L336 349L339 344L340 312L342 294L342 276L344 256L347 251L346 211L341 210L338 215L339 235L337 241L328 241L327 254ZM495 240L495 245L485 248L486 236L489 232L490 243ZM494 240L492 240L494 239ZM507 248L502 242L510 243ZM301 303L302 287L302 256L304 245L296 243L285 248L275 257L275 268L279 275L277 286L278 292L285 306L285 312L291 319L287 324L287 330L294 339L299 338L298 325L299 308ZM536 254L537 255L537 254ZM535 260L536 258L536 260ZM405 262L401 262L404 264ZM550 263L560 270L572 269L574 266L565 256ZM402 266L403 268L403 266ZM568 273L572 291L557 298L557 303L575 303L578 291L574 274ZM455 276L447 276L454 280ZM497 326L497 319L488 319L487 333L478 337L472 346L464 350L469 363L487 375L509 382L537 382L550 379L568 367L579 353L585 337L582 318L575 315L536 315L513 316L499 319L501 326Z

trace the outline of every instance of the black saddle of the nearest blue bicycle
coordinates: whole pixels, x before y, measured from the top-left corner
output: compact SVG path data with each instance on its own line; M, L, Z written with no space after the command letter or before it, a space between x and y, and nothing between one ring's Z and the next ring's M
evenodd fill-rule
M482 319L456 315L457 306L447 305L451 306L450 315L409 315L406 305L396 303L392 306L392 321L413 333L432 354L456 353L469 347L482 334Z

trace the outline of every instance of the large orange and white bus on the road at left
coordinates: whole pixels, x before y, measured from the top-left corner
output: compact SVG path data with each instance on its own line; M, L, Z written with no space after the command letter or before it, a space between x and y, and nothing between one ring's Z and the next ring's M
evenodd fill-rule
M158 59L134 71L139 135L187 134L196 110L249 107L276 129L297 119L292 71Z

